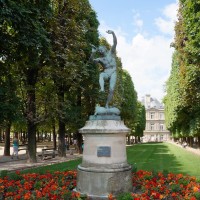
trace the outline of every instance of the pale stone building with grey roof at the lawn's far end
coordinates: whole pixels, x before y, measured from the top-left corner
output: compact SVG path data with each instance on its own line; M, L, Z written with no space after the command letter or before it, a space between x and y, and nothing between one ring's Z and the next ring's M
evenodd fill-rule
M146 95L142 103L146 109L146 127L143 142L170 140L170 132L165 126L164 105L150 95Z

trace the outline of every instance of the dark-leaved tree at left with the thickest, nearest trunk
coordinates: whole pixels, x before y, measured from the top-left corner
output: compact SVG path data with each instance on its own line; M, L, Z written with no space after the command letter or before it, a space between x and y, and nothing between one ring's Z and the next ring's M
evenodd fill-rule
M49 52L48 32L45 29L51 14L50 1L1 2L1 32L7 44L1 57L7 66L13 66L25 91L24 116L28 129L29 162L36 162L36 83L38 73L45 65ZM4 42L3 42L4 44Z

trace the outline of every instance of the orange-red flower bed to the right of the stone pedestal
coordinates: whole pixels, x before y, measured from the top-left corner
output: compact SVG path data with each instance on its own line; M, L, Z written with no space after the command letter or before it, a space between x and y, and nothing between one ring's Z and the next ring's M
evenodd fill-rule
M134 200L199 200L200 181L195 177L172 173L138 171L133 176Z

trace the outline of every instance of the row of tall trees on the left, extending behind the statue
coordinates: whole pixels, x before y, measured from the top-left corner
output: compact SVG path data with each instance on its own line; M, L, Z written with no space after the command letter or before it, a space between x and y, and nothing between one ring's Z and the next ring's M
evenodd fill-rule
M88 0L0 1L0 128L5 155L10 131L25 131L28 161L36 162L36 133L58 135L64 157L65 135L75 133L93 114L99 98L99 66L88 62L99 40L99 22ZM128 72L117 58L115 104L132 133L142 136L144 107ZM123 94L123 95L121 95ZM137 132L136 132L137 130Z

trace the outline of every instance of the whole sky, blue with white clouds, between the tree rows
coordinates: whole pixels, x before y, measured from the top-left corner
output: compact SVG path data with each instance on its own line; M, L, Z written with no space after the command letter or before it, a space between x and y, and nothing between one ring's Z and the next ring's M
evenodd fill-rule
M171 69L176 0L90 0L100 22L100 35L115 31L117 54L133 80L139 99L145 94L161 100Z

